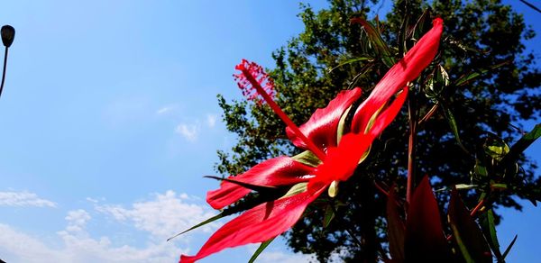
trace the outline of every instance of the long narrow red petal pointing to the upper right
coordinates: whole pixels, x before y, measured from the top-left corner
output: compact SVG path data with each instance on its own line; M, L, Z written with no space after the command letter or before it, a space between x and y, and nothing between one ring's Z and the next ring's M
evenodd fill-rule
M353 132L364 132L371 116L385 104L399 88L407 85L421 74L436 56L440 37L443 31L443 21L436 18L434 26L417 41L403 59L389 69L374 87L371 95L359 106L353 118Z

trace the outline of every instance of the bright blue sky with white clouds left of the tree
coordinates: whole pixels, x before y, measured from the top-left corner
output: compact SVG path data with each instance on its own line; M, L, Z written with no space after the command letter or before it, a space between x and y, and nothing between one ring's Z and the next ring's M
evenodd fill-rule
M204 196L217 185L202 176L234 143L215 95L241 99L234 65L271 67L271 51L302 30L297 13L297 1L3 3L0 23L16 36L0 99L0 258L176 262L197 252L219 223L164 240L214 214ZM539 162L539 143L528 152ZM526 226L541 214L526 207L500 227L503 244L519 234L509 257L534 256L527 240L540 231ZM202 262L242 262L254 249ZM279 240L261 262L307 258Z

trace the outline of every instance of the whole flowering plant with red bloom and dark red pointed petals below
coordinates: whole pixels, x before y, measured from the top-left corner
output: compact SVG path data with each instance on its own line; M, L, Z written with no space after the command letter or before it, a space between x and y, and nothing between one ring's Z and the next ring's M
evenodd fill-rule
M371 23L362 19L353 19L352 23L361 23L372 38L379 37ZM289 141L304 152L297 156L264 160L237 176L215 177L223 180L222 185L208 192L206 201L215 209L225 210L196 227L225 215L243 213L215 231L195 256L182 255L180 262L193 262L222 249L248 243L261 242L261 249L264 249L272 239L298 222L307 206L320 195L327 192L331 198L335 197L340 184L352 177L358 164L369 155L372 141L377 140L400 113L408 98L410 83L436 57L443 28L442 19L434 19L432 29L381 77L366 99L361 101L361 88L346 89L325 108L317 109L300 126L274 102L273 96L277 91L271 77L261 66L243 59L235 68L239 72L234 75L243 95L256 104L266 102L286 124ZM445 69L439 65L436 68L440 68L440 73L433 73L430 81L438 81L435 76L445 76L442 73ZM430 118L430 114L427 113L423 120ZM412 134L413 131L415 129L411 128ZM538 137L535 134L532 136ZM415 181L409 169L405 201L395 193L394 186L381 186L374 182L381 194L388 197L390 258L381 255L382 260L439 262L463 258L484 262L491 260L492 252L497 258L505 258L505 253L502 255L496 245L497 240L487 238L486 232L493 230L491 212L486 213L486 229L481 229L474 221L477 213L486 210L485 204L490 202L487 196L483 196L480 203L469 211L457 193L458 186L455 186L449 204L449 222L442 225L427 177L417 180L417 187ZM252 202L237 203L252 193L258 194L255 198L248 198ZM448 235L445 234L447 229L451 230Z

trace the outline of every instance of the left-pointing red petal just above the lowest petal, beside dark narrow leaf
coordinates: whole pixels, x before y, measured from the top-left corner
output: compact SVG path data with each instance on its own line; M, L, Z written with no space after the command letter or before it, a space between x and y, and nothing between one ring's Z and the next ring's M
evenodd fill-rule
M257 186L288 186L306 182L306 176L312 174L313 169L290 157L281 156L265 160L242 175L230 178ZM206 193L206 202L215 209L222 209L248 195L250 191L243 186L223 182L219 189Z

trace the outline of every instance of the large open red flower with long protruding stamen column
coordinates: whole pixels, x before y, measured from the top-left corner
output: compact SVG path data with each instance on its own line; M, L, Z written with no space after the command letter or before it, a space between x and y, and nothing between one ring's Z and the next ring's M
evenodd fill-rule
M242 175L229 177L243 184L291 186L291 189L280 199L259 204L225 223L206 241L196 256L183 255L180 261L194 262L222 249L270 240L289 230L307 205L333 181L345 181L351 177L371 142L399 113L408 95L407 83L417 78L434 59L442 30L443 22L437 18L432 30L381 78L371 95L355 112L351 132L339 142L338 124L344 112L361 96L360 88L342 91L326 108L316 110L308 122L297 127L266 92L274 90L270 78L260 66L243 60L236 67L241 73L235 75L243 94L254 99L256 95L253 91L246 90L255 89L286 122L289 140L298 148L310 150L320 162L316 167L311 167L296 158L282 156L263 161ZM382 109L393 95L397 95L394 101ZM219 189L208 192L206 201L215 209L221 209L250 192L250 189L225 181Z

